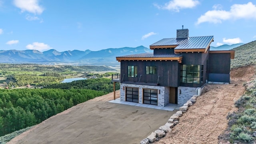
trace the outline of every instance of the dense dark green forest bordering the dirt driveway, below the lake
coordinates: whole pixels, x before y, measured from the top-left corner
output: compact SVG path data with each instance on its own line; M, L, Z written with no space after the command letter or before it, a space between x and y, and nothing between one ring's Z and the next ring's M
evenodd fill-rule
M0 90L0 136L33 126L76 104L113 91L113 84L108 78L80 80L55 86L62 89Z

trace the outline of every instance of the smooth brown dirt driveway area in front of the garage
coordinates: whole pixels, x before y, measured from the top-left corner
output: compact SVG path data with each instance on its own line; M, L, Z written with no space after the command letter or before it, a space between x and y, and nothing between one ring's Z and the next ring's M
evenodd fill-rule
M109 103L112 99L113 93L110 93L73 106L8 144L138 144L174 114Z

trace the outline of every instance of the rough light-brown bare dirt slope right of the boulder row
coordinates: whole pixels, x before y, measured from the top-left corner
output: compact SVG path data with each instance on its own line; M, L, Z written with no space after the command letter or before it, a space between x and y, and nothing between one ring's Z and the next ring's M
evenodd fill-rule
M234 102L244 94L243 83L254 74L254 66L245 66L231 71L232 84L208 84L179 124L157 144L217 144L228 126L228 112L237 110Z

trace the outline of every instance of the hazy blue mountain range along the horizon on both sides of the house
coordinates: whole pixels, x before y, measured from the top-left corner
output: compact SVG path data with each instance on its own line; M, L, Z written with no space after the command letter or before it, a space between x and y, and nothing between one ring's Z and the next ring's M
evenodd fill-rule
M210 50L230 50L242 44L224 44L222 46L211 46ZM0 50L0 63L38 63L38 64L91 64L91 65L113 65L118 64L116 56L129 54L140 54L153 52L144 46L136 48L108 48L99 51L91 50L68 50L58 52L51 49L45 52L38 50Z

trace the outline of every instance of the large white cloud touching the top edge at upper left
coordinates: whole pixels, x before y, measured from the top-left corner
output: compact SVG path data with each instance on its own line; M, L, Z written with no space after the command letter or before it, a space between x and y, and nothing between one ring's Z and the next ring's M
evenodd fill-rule
M33 14L41 14L44 11L42 6L39 6L38 0L14 0L14 5L21 9L21 12L31 12Z

